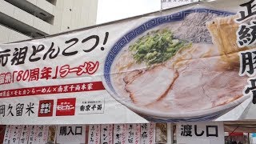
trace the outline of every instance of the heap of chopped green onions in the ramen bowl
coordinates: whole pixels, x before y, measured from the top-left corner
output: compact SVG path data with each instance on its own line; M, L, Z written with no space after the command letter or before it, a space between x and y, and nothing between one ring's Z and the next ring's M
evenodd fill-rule
M189 43L174 38L170 30L157 30L139 38L129 50L136 62L146 62L146 65L150 66L166 62L186 46L190 46Z

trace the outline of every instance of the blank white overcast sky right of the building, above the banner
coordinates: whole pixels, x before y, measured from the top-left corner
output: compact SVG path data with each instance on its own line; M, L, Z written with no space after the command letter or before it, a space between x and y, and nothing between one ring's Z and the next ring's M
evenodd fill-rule
M161 9L161 0L98 0L97 24Z

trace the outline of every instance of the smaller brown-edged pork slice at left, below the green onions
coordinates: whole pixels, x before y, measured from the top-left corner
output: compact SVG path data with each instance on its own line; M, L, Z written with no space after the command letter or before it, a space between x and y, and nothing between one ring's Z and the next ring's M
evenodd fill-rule
M164 65L155 66L136 77L130 77L130 80L126 79L129 82L126 84L126 91L136 105L146 106L167 94L177 77L174 70Z

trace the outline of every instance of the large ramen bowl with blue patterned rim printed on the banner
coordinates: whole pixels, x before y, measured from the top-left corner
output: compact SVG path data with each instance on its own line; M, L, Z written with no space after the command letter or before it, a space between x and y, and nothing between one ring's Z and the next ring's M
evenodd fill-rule
M103 85L150 121L206 121L226 114L248 98L242 94L247 77L238 75L235 17L193 9L143 23L111 48Z

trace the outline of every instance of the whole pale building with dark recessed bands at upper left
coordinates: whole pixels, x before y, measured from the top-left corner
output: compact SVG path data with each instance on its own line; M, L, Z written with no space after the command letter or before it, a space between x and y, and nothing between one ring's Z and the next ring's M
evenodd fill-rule
M0 43L96 24L98 0L2 0Z

